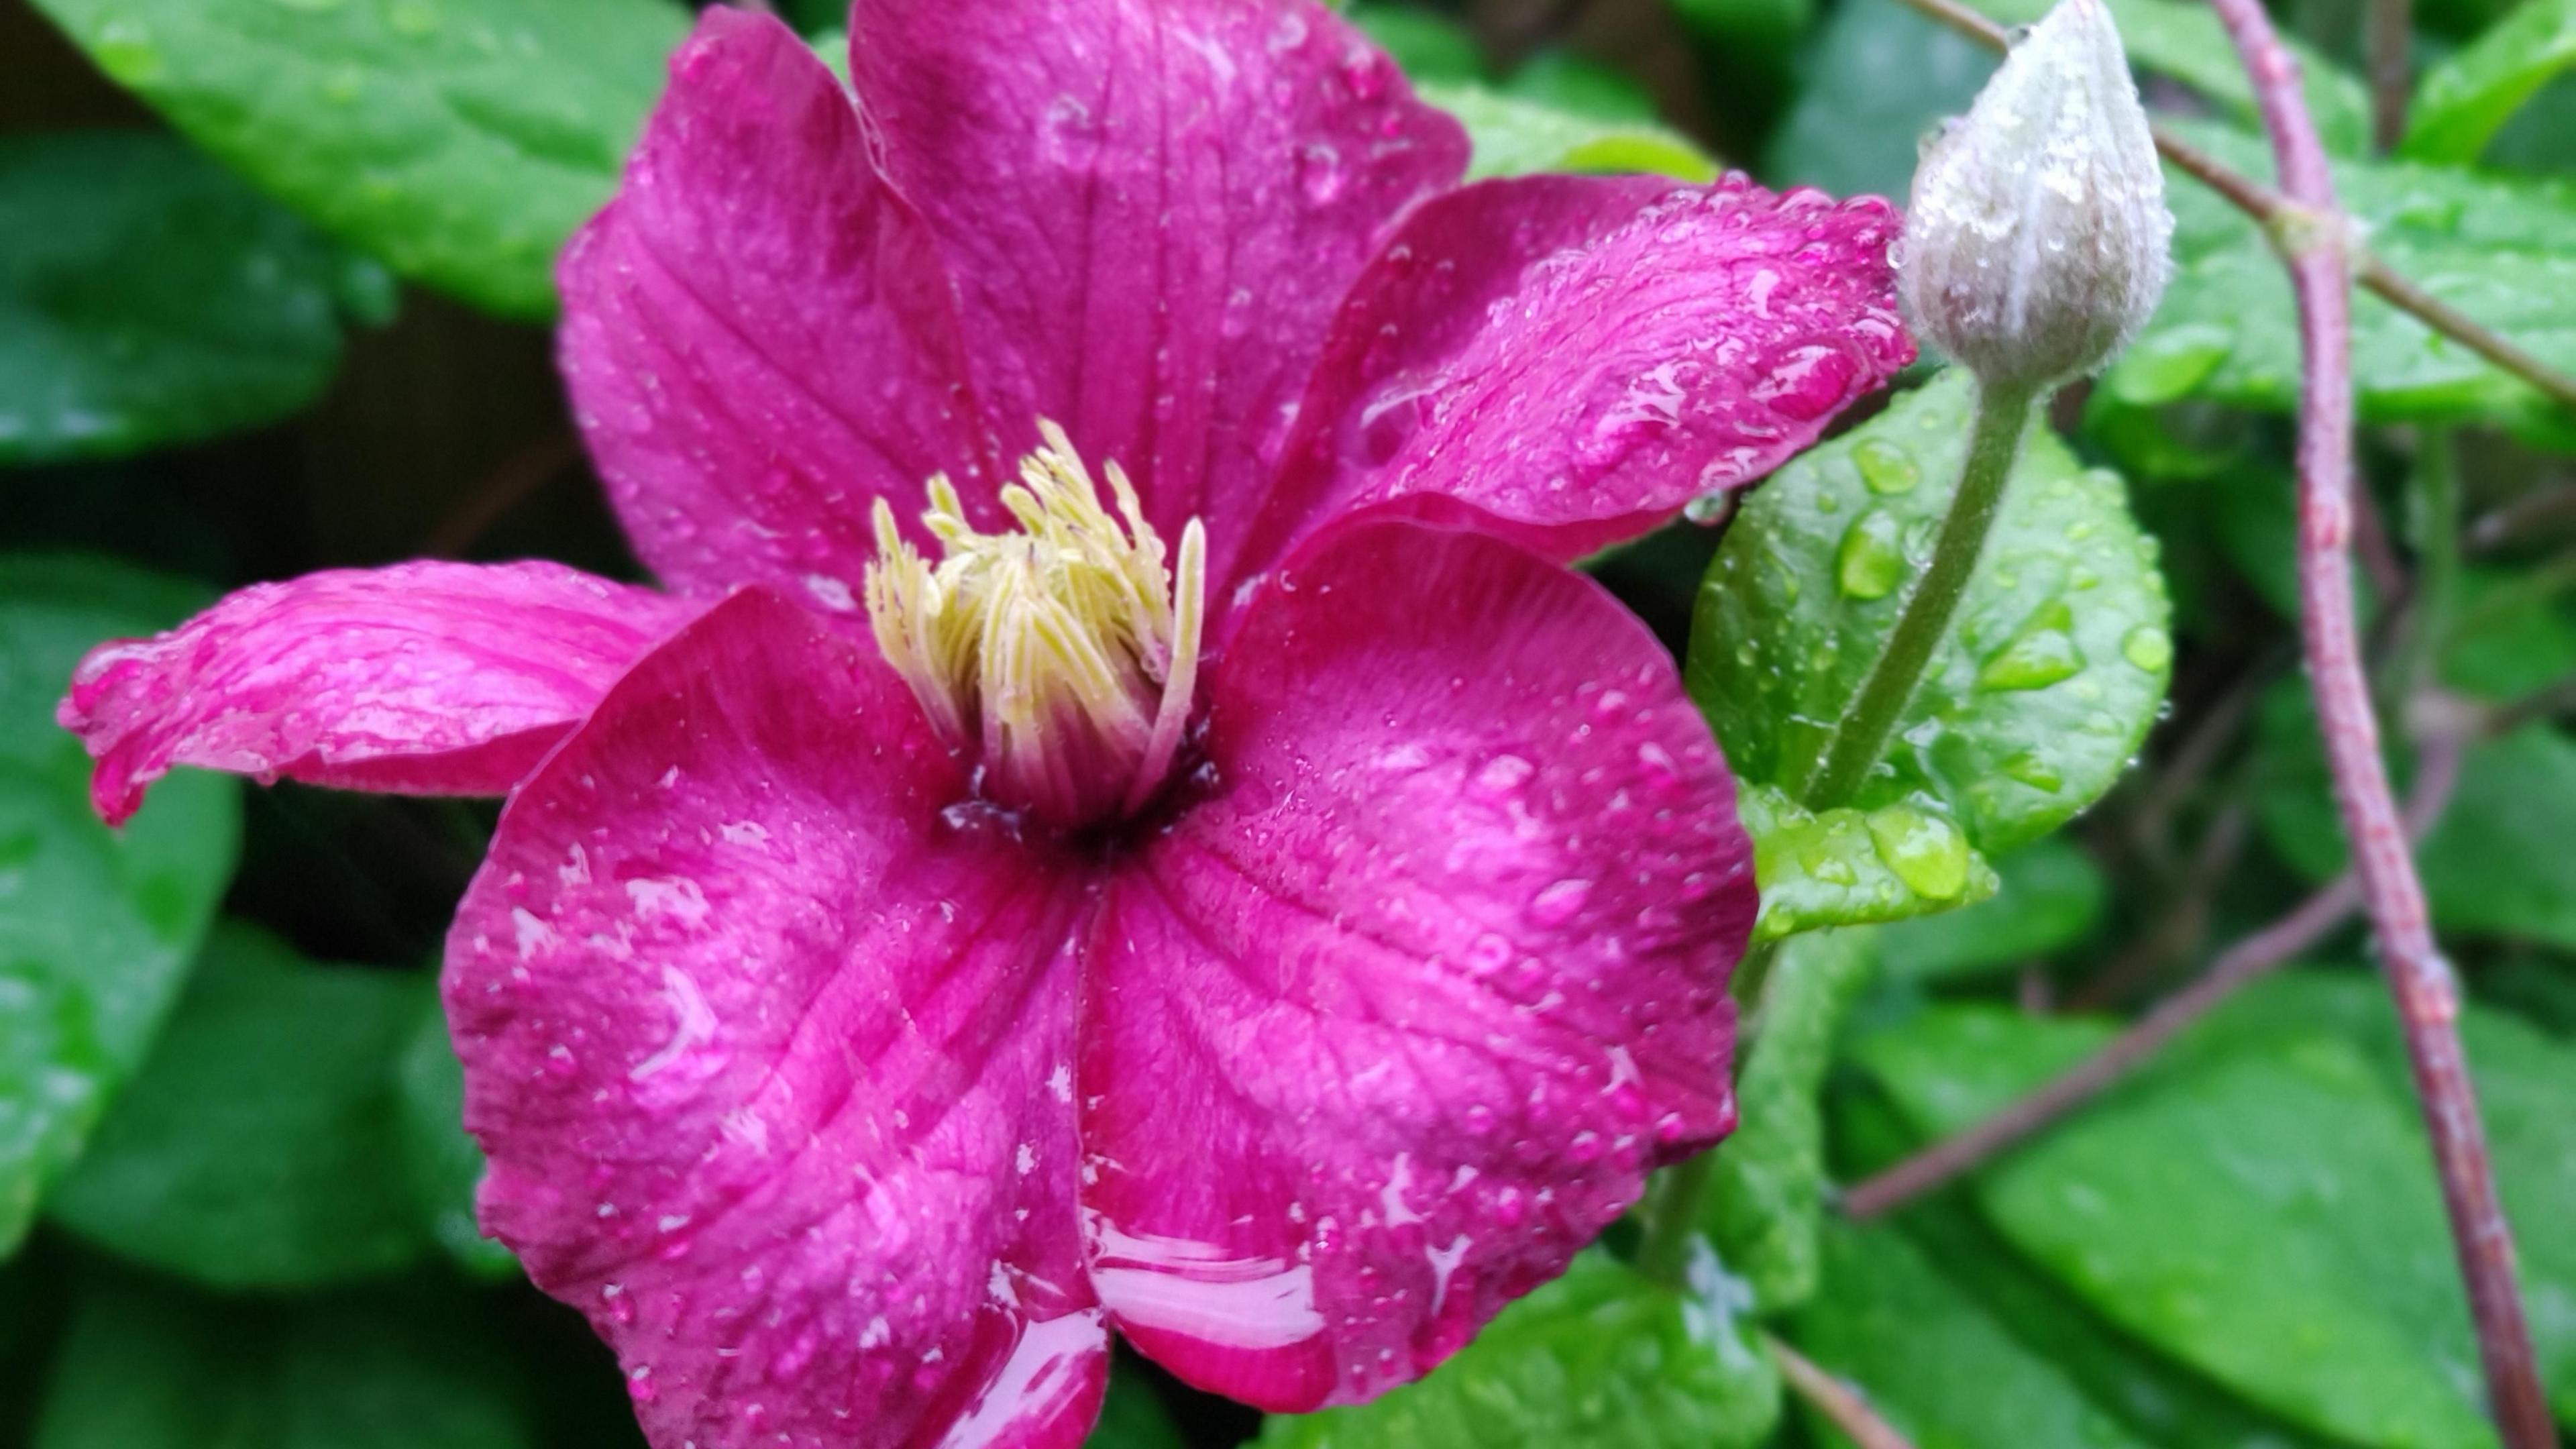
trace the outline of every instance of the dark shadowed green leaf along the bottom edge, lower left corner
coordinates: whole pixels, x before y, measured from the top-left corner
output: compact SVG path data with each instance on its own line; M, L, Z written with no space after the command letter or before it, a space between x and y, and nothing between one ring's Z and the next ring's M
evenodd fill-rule
M283 1305L100 1279L33 1449L523 1449L510 1366L433 1294Z

